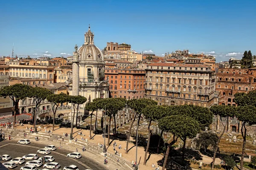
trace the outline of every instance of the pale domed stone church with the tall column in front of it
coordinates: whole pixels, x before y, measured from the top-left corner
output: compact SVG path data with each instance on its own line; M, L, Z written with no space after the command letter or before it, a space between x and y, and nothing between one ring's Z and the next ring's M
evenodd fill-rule
M84 34L84 44L73 52L72 77L67 80L70 95L81 95L92 102L95 98L108 98L109 83L105 80L105 62L102 51L94 45L94 34ZM81 106L82 107L82 106Z

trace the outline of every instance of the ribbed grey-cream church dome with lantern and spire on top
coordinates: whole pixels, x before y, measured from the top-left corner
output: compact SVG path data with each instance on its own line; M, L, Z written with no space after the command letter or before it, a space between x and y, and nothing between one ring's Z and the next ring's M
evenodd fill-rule
M94 45L94 34L90 31L90 25L88 31L84 34L84 44L77 52L81 61L104 62L102 51Z

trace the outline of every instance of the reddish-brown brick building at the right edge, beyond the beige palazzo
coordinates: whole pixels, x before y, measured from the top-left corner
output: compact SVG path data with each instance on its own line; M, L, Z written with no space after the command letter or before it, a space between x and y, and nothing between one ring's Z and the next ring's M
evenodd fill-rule
M234 94L256 89L256 68L219 68L216 77L219 105L236 105Z

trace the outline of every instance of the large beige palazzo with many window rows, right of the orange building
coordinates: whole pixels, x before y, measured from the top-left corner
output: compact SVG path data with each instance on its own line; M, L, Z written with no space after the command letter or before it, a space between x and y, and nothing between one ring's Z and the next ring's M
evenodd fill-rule
M214 103L215 72L207 65L156 62L145 69L145 97L159 105Z

